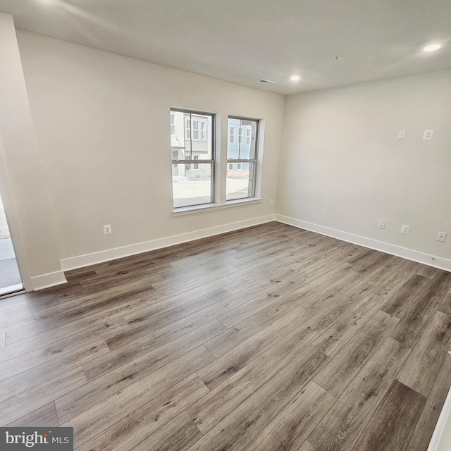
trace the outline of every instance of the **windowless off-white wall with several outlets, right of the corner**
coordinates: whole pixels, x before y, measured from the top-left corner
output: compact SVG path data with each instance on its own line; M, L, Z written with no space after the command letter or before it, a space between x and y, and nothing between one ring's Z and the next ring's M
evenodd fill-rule
M451 270L450 87L446 70L288 96L278 218Z

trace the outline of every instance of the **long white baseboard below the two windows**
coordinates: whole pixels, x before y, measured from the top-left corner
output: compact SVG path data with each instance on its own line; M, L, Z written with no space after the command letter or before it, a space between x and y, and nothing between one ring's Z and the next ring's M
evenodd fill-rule
M82 268L84 266L103 263L104 261L130 257L130 255L141 254L142 252L149 252L155 249L161 249L162 247L180 245L183 242L199 240L199 238L206 238L212 235L219 235L220 233L232 232L233 230L239 230L240 228L258 226L259 224L268 223L271 221L274 221L273 214L260 216L259 218L247 219L246 221L224 224L222 226L204 228L190 233L182 233L181 235L159 238L158 240L140 242L135 245L116 247L114 249L107 249L101 252L93 252L92 254L70 257L69 259L61 260L61 268L63 271L69 271L70 269Z

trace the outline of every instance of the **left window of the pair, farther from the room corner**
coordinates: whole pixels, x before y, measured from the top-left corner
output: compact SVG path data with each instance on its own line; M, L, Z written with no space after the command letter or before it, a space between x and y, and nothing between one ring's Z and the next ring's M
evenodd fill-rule
M214 200L214 114L171 109L171 115L174 116L173 206L177 209L211 204Z

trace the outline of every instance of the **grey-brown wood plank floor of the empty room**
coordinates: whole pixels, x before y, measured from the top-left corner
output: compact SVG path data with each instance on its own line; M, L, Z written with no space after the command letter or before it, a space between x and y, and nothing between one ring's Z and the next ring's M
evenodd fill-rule
M426 451L451 273L268 223L0 300L0 426L79 451Z

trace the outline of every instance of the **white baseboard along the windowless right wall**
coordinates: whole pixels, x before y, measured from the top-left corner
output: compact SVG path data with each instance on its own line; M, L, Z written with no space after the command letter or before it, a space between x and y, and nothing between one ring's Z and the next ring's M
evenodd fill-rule
M395 255L396 257L402 257L403 259L416 261L417 263L433 266L434 268L451 271L451 260L443 259L442 257L424 254L423 252L407 249L407 247L390 245L387 242L373 240L371 238L362 237L360 235L354 235L353 233L343 232L342 230L319 226L319 224L300 221L299 219L290 218L289 216L283 216L280 214L276 214L275 216L276 221L289 224L290 226L310 230L311 232L316 232L320 233L321 235L337 238L338 240L352 242L354 245L368 247L369 249L385 252L385 254Z

